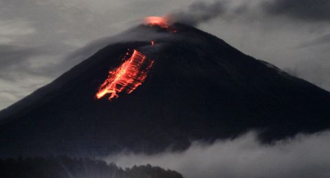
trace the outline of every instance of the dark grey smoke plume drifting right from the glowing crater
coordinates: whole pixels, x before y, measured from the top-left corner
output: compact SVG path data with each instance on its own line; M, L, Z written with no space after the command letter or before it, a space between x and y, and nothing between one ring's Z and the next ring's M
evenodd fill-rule
M223 14L226 4L227 1L214 1L213 3L197 1L189 5L187 10L169 14L168 19L170 23L185 23L195 26Z

